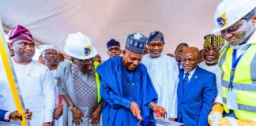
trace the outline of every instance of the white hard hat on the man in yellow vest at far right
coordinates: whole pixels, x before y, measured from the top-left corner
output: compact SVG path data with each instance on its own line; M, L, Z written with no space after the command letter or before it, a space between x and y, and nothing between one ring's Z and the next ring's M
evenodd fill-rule
M213 34L232 26L255 7L256 0L223 0L216 7Z

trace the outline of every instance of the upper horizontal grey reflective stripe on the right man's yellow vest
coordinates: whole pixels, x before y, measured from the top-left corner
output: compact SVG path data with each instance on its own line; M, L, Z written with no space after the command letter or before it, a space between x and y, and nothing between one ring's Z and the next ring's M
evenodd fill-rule
M229 82L221 80L221 85L228 88ZM239 91L256 91L256 83L247 84L247 83L233 83L233 87ZM256 97L256 96L255 96Z

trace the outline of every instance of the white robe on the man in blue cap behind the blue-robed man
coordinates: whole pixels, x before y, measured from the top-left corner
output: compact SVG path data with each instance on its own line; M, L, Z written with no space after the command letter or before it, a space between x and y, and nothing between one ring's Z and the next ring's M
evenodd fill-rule
M163 106L168 117L177 118L177 87L179 83L179 68L174 57L161 54L151 58L149 54L141 61L148 69L149 76L158 95L157 104Z

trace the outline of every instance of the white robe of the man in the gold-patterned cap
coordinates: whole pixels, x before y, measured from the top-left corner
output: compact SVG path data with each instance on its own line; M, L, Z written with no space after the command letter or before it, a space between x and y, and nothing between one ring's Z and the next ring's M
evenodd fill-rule
M198 64L201 69L205 69L209 72L213 72L216 75L216 87L218 94L215 98L215 102L218 102L220 104L223 103L223 98L222 98L222 87L221 87L221 75L222 71L219 67L219 65L206 65L205 61L202 61L200 64Z

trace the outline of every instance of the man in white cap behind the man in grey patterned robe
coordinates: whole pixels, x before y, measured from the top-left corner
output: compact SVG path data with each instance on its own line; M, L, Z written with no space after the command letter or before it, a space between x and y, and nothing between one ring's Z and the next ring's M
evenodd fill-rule
M56 76L58 69L58 50L56 46L52 45L42 45L40 46L41 57L43 64L51 70L52 76ZM62 126L62 113L63 104L62 96L58 95L57 80L55 80L55 91L56 91L56 101L55 101L55 111L53 113L54 125Z

